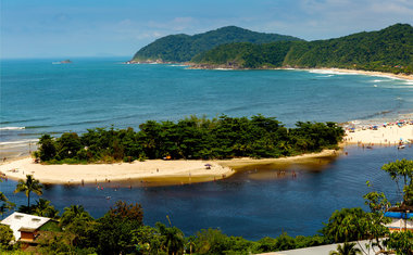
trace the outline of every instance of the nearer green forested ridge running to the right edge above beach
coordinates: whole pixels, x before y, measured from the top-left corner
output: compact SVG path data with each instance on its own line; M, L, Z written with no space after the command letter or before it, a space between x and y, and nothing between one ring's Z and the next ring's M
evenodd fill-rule
M413 27L396 24L329 40L230 43L202 52L191 62L201 67L338 67L413 74Z

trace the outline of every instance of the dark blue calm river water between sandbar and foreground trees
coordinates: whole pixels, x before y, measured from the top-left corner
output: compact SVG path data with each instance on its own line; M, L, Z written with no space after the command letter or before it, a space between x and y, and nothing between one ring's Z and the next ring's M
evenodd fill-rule
M117 190L53 186L42 197L51 200L60 211L83 204L95 217L102 216L117 200L138 202L143 207L146 224L167 224L168 215L186 234L210 227L251 240L276 237L283 231L291 235L315 234L335 209L364 206L362 195L371 191L366 180L392 203L401 199L395 182L380 167L396 158L413 160L413 148L398 151L352 146L348 152L348 156L340 156L323 171L291 166L297 173L295 179L288 173L285 178L277 178L277 169L251 170L222 181L188 186ZM24 194L13 194L15 183L0 183L1 190L13 202L26 204Z

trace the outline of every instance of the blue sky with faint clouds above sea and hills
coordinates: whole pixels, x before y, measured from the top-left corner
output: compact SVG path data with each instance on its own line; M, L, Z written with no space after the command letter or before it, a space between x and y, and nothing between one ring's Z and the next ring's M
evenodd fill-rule
M412 0L0 0L0 59L125 56L235 25L329 39L413 23Z

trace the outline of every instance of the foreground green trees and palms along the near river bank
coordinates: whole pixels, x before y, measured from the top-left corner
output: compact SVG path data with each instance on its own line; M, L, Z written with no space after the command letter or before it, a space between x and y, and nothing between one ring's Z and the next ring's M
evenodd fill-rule
M397 206L413 206L413 161L396 161L384 165L381 169L387 171L398 186L402 184L399 187L401 189L398 189L402 202ZM22 180L21 183L25 182L38 181L27 176L26 181ZM25 191L18 184L16 191ZM30 186L26 183L25 187ZM36 189L32 187L29 190ZM28 193L25 193L29 199ZM361 246L360 253L363 254L371 254L371 247L378 248L383 254L413 254L413 232L390 233L384 226L389 222L384 213L391 206L386 195L373 191L363 197L370 212L361 208L336 211L320 230L321 234L292 238L283 233L277 238L266 237L259 241L228 237L217 229L202 229L195 235L185 237L182 230L172 225L167 216L168 226L161 222L155 227L145 226L141 206L122 201L115 203L98 219L93 219L82 205L64 208L60 217L50 201L42 199L30 206L22 205L18 211L55 219L40 228L39 244L30 250L40 254L255 254L338 242L345 244L338 246L338 253L331 254L355 254L340 251L355 252L354 244L348 242L358 240L368 240L368 246ZM385 238L384 242L379 242L381 238ZM12 240L11 229L0 226L2 254L18 248L18 243L10 243Z

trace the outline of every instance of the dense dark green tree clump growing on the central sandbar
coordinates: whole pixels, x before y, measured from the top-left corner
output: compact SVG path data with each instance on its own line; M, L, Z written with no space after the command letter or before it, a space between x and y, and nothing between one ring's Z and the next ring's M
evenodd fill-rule
M286 128L262 115L205 119L191 116L177 123L148 120L132 128L89 129L78 136L43 135L35 153L42 162L111 162L145 158L279 157L335 149L343 130L335 123L297 123ZM68 160L68 161L67 161Z

